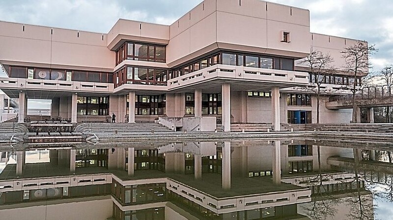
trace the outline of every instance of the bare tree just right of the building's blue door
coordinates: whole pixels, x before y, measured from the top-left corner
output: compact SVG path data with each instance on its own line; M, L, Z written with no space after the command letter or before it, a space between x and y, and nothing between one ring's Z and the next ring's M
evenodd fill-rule
M333 68L330 66L334 59L329 53L322 53L319 50L310 49L310 53L300 64L306 64L315 80L312 87L306 87L309 91L316 94L316 123L319 123L319 105L321 96L321 84L325 82L326 76L332 74ZM316 88L315 88L316 87Z

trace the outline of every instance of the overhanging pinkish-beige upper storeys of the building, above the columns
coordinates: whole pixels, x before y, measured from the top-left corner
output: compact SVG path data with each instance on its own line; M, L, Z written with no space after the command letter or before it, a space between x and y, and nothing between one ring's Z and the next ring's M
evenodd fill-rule
M261 0L204 0L173 24L119 19L108 33L0 22L0 64L11 78L1 89L176 92L222 79L233 88L302 86L308 70L295 61L310 47L339 68L340 51L355 42L310 33L309 10ZM210 74L220 71L229 73Z

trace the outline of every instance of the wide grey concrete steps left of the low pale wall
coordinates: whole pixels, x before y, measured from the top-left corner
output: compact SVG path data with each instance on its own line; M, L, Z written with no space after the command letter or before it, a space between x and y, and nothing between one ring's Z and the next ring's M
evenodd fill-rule
M152 134L174 133L174 131L158 123L82 123L75 127L75 132L109 134Z

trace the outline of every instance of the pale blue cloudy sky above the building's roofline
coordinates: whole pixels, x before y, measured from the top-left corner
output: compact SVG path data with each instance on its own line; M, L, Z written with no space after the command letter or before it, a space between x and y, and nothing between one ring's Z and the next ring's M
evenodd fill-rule
M119 18L171 24L201 1L0 0L0 20L107 33ZM271 1L309 9L311 32L375 44L373 71L393 63L391 0Z

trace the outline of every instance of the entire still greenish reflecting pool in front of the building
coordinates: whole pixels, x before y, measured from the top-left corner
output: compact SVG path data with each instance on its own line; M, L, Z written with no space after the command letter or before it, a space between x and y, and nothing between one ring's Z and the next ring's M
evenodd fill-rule
M0 219L390 219L391 147L315 139L0 146Z

